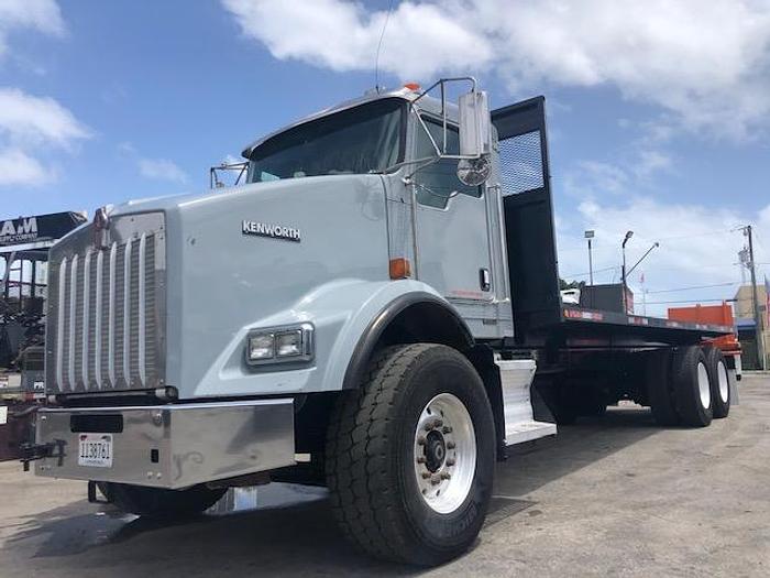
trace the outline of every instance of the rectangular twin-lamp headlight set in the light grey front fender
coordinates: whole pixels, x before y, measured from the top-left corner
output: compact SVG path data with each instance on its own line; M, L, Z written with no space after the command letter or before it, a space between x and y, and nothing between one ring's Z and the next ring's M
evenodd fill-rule
M245 357L250 366L311 361L314 353L314 327L309 323L254 329L246 338Z

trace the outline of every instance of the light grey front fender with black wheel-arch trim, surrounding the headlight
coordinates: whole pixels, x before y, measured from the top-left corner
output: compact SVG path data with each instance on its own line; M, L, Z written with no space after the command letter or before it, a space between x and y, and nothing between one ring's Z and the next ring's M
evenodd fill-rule
M314 363L245 367L243 347L251 329L306 321L316 328ZM413 339L443 342L461 350L473 343L459 314L426 283L337 280L315 287L289 307L245 320L206 373L188 385L193 395L186 397L290 395L352 388L380 338L385 336L395 342L396 336L387 335L388 329L394 332L407 321L411 323Z

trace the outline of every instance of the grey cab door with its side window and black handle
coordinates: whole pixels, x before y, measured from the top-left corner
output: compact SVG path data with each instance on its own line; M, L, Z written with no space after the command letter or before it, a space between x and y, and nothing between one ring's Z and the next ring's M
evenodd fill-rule
M442 142L441 120L424 116L435 141ZM433 156L425 129L415 123L414 157ZM459 133L449 124L447 153L458 154ZM468 305L492 301L490 237L485 186L469 187L457 176L458 161L444 159L417 171L415 226L417 277L449 301Z

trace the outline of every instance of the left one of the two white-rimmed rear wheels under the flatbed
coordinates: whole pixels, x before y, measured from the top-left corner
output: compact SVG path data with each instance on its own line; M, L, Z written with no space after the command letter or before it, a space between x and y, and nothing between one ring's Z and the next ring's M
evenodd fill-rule
M706 427L712 423L712 386L708 361L698 346L681 347L671 361L676 413L682 424Z

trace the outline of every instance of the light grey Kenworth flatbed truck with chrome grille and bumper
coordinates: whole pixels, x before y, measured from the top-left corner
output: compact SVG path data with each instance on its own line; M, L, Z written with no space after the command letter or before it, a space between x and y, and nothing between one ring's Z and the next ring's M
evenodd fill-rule
M378 91L246 148L243 186L99 209L51 252L35 472L148 516L324 484L364 552L436 565L506 447L619 400L725 417L730 328L562 303L543 102Z

